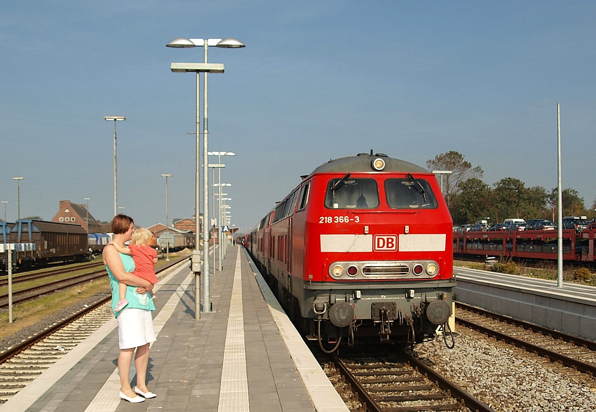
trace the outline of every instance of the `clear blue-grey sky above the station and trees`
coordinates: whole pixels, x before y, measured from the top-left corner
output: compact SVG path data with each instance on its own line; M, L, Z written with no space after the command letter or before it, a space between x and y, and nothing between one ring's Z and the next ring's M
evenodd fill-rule
M232 224L250 227L330 158L384 152L424 166L455 150L489 185L515 177L596 198L596 3L591 1L4 1L0 4L0 197L7 220L51 219L60 199L141 226L194 213L195 78L177 37L209 48L209 149ZM202 88L202 86L201 86ZM202 93L202 92L201 92ZM202 109L201 109L202 113ZM215 162L215 158L210 160ZM1 213L1 212L0 212Z

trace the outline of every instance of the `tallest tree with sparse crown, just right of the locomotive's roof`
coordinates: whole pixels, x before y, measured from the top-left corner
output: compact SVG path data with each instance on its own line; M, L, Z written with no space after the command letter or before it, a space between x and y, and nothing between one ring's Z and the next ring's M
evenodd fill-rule
M472 167L472 164L464 160L460 152L449 151L436 155L434 159L427 160L426 167L429 170L451 170L451 174L443 175L443 193L447 205L451 205L454 195L461 192L460 184L468 179L481 179L484 171L480 166Z

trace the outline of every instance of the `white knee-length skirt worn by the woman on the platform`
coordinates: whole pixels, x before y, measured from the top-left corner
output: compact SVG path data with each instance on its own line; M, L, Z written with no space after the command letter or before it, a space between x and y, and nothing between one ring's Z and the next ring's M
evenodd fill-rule
M120 349L138 348L157 340L150 310L124 308L116 320Z

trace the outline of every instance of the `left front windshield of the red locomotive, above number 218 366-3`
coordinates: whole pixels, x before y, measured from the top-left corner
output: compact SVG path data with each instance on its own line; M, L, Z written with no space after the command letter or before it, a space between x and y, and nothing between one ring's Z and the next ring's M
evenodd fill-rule
M349 174L327 183L325 207L329 209L374 209L378 188L374 179L354 179Z

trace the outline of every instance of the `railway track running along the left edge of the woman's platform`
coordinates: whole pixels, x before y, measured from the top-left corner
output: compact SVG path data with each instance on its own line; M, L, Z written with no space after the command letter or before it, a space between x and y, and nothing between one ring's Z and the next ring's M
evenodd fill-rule
M187 259L185 256L172 260L156 273L159 276L160 272ZM94 305L77 311L54 326L0 353L0 404L21 391L105 322L114 319L110 301L110 296L100 299Z

